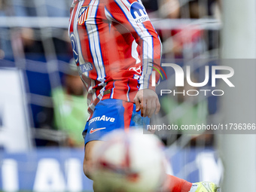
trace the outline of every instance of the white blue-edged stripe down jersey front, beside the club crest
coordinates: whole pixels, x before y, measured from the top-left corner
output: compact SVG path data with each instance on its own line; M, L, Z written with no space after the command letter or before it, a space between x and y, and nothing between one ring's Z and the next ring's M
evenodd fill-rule
M90 2L90 13L85 26L89 35L90 50L93 56L93 63L96 66L96 71L98 74L98 81L105 81L105 67L102 59L102 51L99 46L99 32L96 26L96 11L98 9L99 0L94 0Z

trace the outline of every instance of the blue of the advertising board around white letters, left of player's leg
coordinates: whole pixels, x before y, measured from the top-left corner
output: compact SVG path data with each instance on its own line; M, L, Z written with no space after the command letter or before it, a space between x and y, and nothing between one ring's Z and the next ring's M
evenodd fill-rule
M62 170L65 178L65 161L69 158L76 158L81 160L81 167L84 160L84 150L83 149L70 149L70 148L40 148L35 151L28 152L26 154L6 154L5 152L0 152L0 162L5 159L12 159L18 163L18 177L19 177L19 187L20 190L32 190L35 182L36 170L38 168L38 161L52 158L57 160L60 164L60 169ZM0 166L0 173L2 172L2 166ZM2 190L2 177L4 175L0 174L0 190ZM93 190L93 182L84 176L83 171L81 171L81 178L83 178L83 189Z

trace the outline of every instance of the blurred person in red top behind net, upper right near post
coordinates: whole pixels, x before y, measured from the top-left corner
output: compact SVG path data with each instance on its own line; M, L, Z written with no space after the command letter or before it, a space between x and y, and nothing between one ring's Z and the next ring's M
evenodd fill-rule
M201 15L206 15L206 8L197 1L188 2L180 5L178 12L175 14L176 19L199 19ZM172 46L164 44L167 58L187 58L190 59L200 55L206 50L206 43L203 37L203 30L194 24L181 24L176 29L171 30L171 38L167 42ZM172 47L172 48L171 48Z

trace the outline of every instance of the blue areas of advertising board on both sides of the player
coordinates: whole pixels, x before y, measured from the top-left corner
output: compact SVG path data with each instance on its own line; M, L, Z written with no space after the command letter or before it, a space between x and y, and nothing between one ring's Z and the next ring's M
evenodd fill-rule
M195 167L194 172L186 173L186 166L188 163L194 162L202 152L208 152L215 154L212 148L197 148L197 149L180 149L175 151L175 154L169 159L175 176L184 178L190 182L200 181L200 168ZM38 148L35 151L28 152L26 154L6 154L4 151L0 152L0 162L6 159L12 159L17 161L18 175L20 190L32 190L35 182L35 174L38 168L38 161L45 158L53 158L59 162L61 170L66 178L65 162L69 158L76 158L81 160L81 167L84 159L84 150L70 149L70 148ZM184 175L178 175L184 169ZM0 166L0 173L2 172L2 166ZM0 190L2 189L2 177L5 175L0 174ZM92 181L86 178L81 171L81 178L83 179L83 190L92 190Z

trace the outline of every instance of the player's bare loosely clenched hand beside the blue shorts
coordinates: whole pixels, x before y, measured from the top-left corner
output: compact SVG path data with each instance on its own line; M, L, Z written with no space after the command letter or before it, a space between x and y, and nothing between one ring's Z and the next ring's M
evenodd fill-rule
M160 102L154 90L139 90L133 101L136 104L136 111L141 110L142 117L151 117L160 111Z

